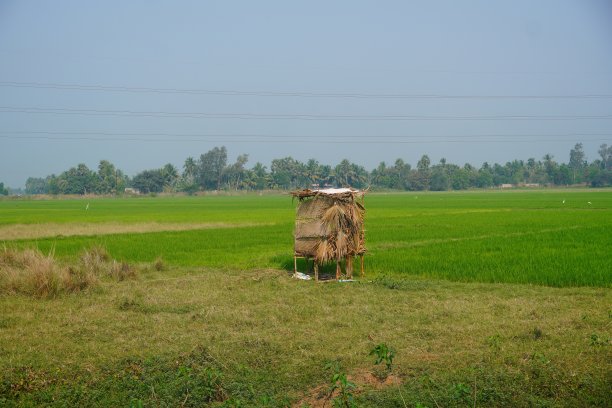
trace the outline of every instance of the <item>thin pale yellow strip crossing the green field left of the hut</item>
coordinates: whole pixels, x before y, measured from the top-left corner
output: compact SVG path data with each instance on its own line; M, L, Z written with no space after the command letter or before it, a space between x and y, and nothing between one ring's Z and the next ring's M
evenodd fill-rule
M0 241L33 239L56 236L89 236L126 233L147 233L160 231L190 231L198 229L241 228L273 225L271 223L42 223L10 224L0 226Z

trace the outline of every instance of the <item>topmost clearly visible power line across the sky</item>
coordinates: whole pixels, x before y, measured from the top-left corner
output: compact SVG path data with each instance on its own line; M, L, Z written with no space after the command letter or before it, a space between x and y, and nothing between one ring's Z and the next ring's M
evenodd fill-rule
M453 95L453 94L405 94L405 93L363 93L363 92L305 92L305 91L243 91L187 88L150 88L112 85L62 84L48 82L0 81L2 87L56 89L95 92L131 92L186 95L219 96L263 96L300 98L354 98L354 99L612 99L612 94L559 94L559 95Z

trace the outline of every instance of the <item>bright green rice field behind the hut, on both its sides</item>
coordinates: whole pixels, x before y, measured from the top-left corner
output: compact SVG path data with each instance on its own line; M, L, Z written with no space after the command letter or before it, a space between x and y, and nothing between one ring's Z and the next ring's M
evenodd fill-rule
M42 224L42 236L10 244L53 248L61 257L102 244L131 262L162 257L176 266L287 269L295 204L281 194L2 201L0 233L15 224ZM368 276L557 287L612 283L610 191L370 194L366 207ZM109 222L161 225L147 233L111 228L70 236L71 225ZM48 223L61 224L52 236L44 236ZM163 231L170 224L187 230Z

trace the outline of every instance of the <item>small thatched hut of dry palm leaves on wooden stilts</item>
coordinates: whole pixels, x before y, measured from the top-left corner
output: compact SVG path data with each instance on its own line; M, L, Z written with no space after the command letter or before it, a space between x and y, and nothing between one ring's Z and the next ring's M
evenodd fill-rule
M353 260L360 257L363 276L365 249L364 192L351 188L298 190L291 195L299 200L295 219L294 269L297 258L314 261L315 280L319 265L336 262L336 279L345 272L353 277Z

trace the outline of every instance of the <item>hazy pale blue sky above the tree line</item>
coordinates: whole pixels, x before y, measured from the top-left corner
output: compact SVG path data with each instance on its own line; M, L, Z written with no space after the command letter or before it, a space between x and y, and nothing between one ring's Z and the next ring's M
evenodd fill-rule
M0 0L0 181L612 144L609 1ZM216 115L216 116L215 116Z

